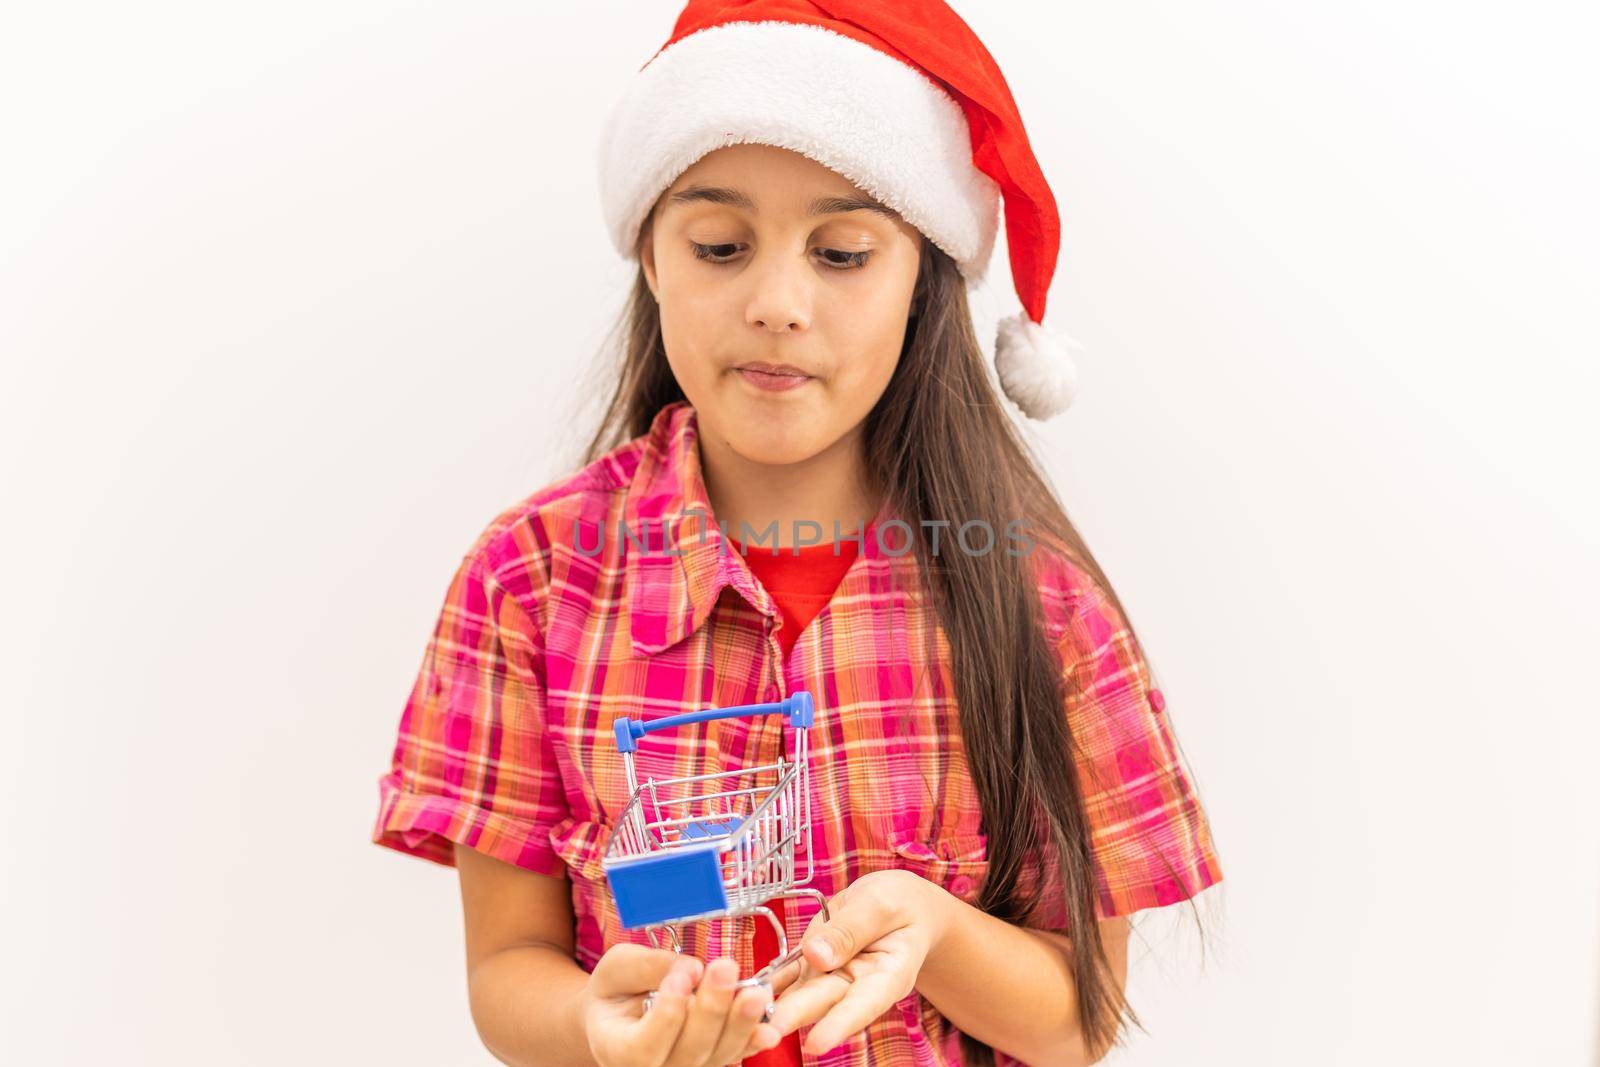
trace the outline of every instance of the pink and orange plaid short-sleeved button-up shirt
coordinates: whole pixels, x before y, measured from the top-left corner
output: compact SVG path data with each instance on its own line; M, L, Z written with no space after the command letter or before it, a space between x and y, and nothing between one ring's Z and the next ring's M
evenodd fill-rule
M621 926L602 869L629 798L611 728L621 717L810 689L811 886L832 896L867 872L904 867L976 902L984 877L949 646L915 589L915 555L899 553L904 530L885 533L885 552L877 530L893 515L864 528L859 557L786 661L778 605L710 514L685 402L501 512L454 573L379 781L376 843L451 865L459 841L565 873L586 971L619 941L650 944ZM648 547L618 536L624 526ZM1078 745L1099 913L1194 896L1221 870L1149 667L1083 571L1043 552L1019 558L1035 560L1046 632L1080 694L1064 713ZM773 763L789 731L770 715L651 733L638 742L638 779ZM1045 875L1035 920L1048 929L1066 928L1056 881ZM814 913L810 899L790 902L790 944ZM752 971L754 920L682 933L685 952L730 955ZM957 1030L917 992L805 1061L962 1062Z

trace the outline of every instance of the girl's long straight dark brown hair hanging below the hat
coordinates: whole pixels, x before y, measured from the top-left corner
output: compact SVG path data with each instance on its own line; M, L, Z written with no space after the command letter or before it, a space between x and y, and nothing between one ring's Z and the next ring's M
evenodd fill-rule
M1038 878L1026 877L1029 862L1058 857L1078 1016L1099 1054L1125 1021L1138 1025L1138 1017L1112 977L1094 913L1090 825L1062 713L1064 686L1072 681L1045 633L1037 579L1018 563L1027 557L947 549L934 555L922 520L984 520L998 537L1022 517L1035 552L1064 553L1101 584L1123 621L1128 616L1002 406L973 331L966 283L930 240L922 242L912 309L899 365L867 416L866 454L894 514L914 528L923 589L950 648L962 739L989 841L978 905L1021 923L1040 896ZM643 269L616 331L621 365L608 368L614 390L586 462L645 434L667 403L686 400L667 365ZM968 1033L962 1051L968 1064L994 1064L994 1049Z

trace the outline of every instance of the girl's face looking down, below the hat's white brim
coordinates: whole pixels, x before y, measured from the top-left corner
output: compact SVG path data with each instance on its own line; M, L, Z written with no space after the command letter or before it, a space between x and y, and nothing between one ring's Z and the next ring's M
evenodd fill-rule
M702 434L747 461L794 464L856 430L899 362L922 242L787 149L734 144L680 174L640 266Z

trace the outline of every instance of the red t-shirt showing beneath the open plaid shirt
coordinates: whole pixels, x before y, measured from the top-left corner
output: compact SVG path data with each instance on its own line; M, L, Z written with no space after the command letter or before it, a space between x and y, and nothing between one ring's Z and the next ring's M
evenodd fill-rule
M834 545L838 555L834 555ZM795 638L811 622L813 617L834 597L845 571L858 555L854 541L838 541L805 545L795 549L773 549L750 545L744 550L744 561L750 565L750 573L778 601L778 609L784 616L784 624L778 627L778 646L789 659L789 649ZM768 901L778 921L784 921L784 902ZM792 945L790 945L792 947ZM778 934L765 918L755 920L755 969L766 966L778 955ZM800 1067L800 1033L789 1033L776 1048L747 1056L746 1067Z

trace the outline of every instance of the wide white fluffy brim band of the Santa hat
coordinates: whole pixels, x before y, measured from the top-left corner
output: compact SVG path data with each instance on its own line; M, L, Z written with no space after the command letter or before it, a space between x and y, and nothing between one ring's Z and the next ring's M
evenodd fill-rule
M790 149L901 213L970 285L994 253L1000 187L973 165L962 107L859 40L800 22L726 22L646 64L600 131L600 198L632 258L656 198L730 144Z

